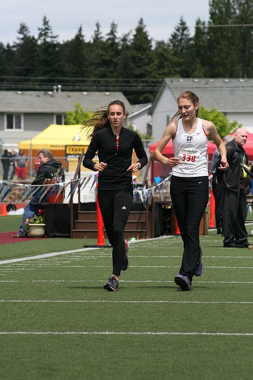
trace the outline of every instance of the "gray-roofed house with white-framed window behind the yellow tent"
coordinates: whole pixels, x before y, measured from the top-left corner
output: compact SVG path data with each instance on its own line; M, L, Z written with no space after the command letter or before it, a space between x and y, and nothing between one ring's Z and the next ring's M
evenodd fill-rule
M20 141L35 137L51 124L64 124L66 111L73 111L79 103L84 111L95 111L112 100L132 106L122 92L61 91L0 91L0 155L4 149L17 150ZM128 121L125 121L125 125Z

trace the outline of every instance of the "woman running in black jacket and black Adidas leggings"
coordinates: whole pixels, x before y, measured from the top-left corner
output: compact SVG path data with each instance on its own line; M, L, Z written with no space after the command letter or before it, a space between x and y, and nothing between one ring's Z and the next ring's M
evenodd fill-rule
M112 276L104 288L115 291L121 271L129 267L129 242L124 240L124 228L133 203L132 173L143 168L148 160L140 136L122 127L126 117L124 103L115 100L107 110L99 109L83 128L94 127L91 143L83 158L83 166L99 171L98 201L105 231L112 245ZM138 162L132 164L133 149ZM98 152L99 164L93 159Z

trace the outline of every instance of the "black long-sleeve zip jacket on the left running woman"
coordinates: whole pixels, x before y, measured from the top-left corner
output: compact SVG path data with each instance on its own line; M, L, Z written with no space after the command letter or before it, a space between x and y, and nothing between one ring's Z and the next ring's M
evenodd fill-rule
M98 152L99 162L108 166L98 176L98 190L114 190L132 188L132 172L127 169L132 165L133 149L135 149L141 168L147 165L148 159L142 140L138 133L121 128L119 133L118 150L116 148L116 135L111 127L105 127L95 133L88 150L83 158L82 165L94 170L92 161Z

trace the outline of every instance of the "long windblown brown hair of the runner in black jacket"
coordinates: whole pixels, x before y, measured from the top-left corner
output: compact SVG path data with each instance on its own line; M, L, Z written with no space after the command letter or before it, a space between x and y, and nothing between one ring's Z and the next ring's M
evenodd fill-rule
M107 107L100 107L98 108L94 114L93 117L89 120L87 120L85 123L82 124L81 131L83 131L85 128L88 128L88 139L91 140L94 136L94 134L99 131L100 129L106 128L110 126L110 122L108 119L108 112L111 105L120 105L123 109L123 113L125 113L125 105L121 100L113 100L111 101Z

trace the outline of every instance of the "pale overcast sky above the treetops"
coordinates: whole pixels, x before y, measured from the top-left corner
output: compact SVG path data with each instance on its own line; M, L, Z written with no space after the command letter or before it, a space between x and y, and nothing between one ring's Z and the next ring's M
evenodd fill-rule
M71 40L80 25L85 41L90 41L97 22L103 35L115 22L117 36L121 37L134 31L140 18L143 18L150 38L167 41L182 16L192 35L198 17L202 21L209 19L208 0L6 0L1 4L0 42L12 45L17 41L21 23L25 23L30 33L37 37L44 16L60 42Z

